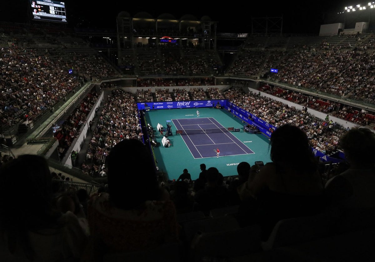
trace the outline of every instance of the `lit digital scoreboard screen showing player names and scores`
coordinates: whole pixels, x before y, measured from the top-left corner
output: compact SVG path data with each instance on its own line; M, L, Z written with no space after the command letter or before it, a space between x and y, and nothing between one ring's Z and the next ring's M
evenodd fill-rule
M65 2L30 0L31 19L34 21L68 23Z

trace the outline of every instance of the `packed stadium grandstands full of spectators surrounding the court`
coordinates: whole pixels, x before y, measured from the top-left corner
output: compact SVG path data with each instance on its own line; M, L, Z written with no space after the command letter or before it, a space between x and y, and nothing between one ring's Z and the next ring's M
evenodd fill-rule
M225 99L275 128L286 123L300 127L312 147L326 156L340 151L339 138L349 128L374 131L374 33L248 35L240 41L228 61L228 54L199 41L102 48L68 28L35 30L33 25L2 23L2 144L11 150L26 139L55 146L61 164L51 162L55 170L89 184L95 181L90 186L94 194L105 191L106 157L115 144L134 138L152 152L155 130L145 124L136 106L140 102ZM63 119L58 125L48 122L54 114ZM53 135L33 136L30 125L49 132L54 128ZM89 139L77 152L77 143L85 140L82 134ZM3 152L4 161L11 157ZM321 175L327 181L335 174L323 170ZM232 179L225 177L224 183ZM62 190L73 188L68 182ZM163 177L159 182L173 186ZM82 183L77 187L88 188Z

